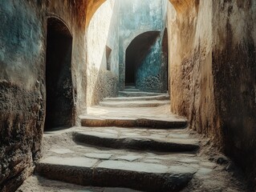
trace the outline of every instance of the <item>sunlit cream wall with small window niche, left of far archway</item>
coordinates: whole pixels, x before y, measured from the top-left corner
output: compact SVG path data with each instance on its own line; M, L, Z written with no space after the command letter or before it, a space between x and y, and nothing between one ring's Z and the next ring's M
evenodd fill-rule
M95 12L87 29L87 106L117 95L118 3L108 0ZM107 58L107 46L111 49ZM107 61L109 60L109 61ZM110 70L107 69L110 63Z

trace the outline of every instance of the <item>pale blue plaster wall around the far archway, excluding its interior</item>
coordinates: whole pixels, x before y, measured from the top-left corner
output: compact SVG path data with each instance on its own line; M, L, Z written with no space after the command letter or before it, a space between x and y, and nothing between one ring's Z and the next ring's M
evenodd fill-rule
M125 52L129 44L144 32L165 29L165 3L162 0L125 0L120 4L120 90L124 89L125 84ZM154 50L151 54L154 54Z

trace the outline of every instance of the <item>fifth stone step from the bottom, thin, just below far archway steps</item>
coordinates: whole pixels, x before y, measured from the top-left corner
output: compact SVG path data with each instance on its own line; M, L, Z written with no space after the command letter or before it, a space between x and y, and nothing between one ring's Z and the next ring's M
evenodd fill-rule
M122 98L104 98L104 102L128 102L128 101L163 101L169 100L169 94L148 96L148 97L122 97Z

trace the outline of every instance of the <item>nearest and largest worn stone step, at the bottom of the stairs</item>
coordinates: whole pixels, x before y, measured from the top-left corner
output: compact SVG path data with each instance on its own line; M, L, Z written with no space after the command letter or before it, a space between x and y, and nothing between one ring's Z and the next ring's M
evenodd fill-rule
M178 191L187 186L196 170L185 166L164 166L145 162L51 156L40 160L35 172L45 178L81 186Z

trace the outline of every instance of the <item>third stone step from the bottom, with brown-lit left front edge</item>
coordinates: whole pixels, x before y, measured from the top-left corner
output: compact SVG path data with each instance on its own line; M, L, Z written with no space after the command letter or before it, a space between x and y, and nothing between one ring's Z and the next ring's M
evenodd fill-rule
M169 118L98 118L91 115L80 116L82 126L120 126L120 127L145 127L154 129L185 129L186 120L173 120Z

